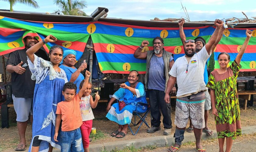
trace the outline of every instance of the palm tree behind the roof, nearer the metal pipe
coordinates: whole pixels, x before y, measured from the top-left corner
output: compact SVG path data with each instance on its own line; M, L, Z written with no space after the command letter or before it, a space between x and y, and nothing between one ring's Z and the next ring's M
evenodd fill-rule
M55 12L61 11L64 15L87 16L81 10L87 8L87 3L84 0L54 0L53 2L61 9L55 10Z

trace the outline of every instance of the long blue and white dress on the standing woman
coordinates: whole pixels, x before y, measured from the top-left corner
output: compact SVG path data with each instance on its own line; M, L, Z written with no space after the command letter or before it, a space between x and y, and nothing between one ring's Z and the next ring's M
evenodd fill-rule
M33 125L31 151L35 136L42 140L39 151L48 151L49 143L60 149L59 142L53 139L57 104L64 100L63 85L68 82L65 71L56 72L52 63L34 55L34 63L28 58L32 79L36 80L33 100ZM59 137L59 136L58 136ZM59 139L57 139L59 140ZM60 141L60 140L59 140Z

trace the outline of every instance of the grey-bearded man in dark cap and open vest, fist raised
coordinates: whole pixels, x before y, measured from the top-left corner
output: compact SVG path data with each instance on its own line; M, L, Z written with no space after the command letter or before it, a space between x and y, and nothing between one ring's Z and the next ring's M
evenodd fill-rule
M149 128L147 132L154 133L161 129L160 106L165 128L163 134L169 135L172 128L171 104L165 103L164 96L169 79L168 72L172 68L174 60L172 54L163 48L164 40L161 37L155 37L153 40L154 50L141 52L148 44L149 42L147 40L142 41L140 47L138 47L133 54L137 59L147 59L145 88L148 90L152 116L151 128ZM171 90L172 93L176 92L176 88L173 86Z

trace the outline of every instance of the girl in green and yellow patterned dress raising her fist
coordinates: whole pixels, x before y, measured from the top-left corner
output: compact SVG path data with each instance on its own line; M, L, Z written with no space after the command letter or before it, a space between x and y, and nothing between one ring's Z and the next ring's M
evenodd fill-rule
M236 79L241 68L240 61L251 38L252 31L246 29L246 39L234 62L228 67L230 56L222 52L218 56L220 68L212 71L206 87L211 90L212 114L215 115L216 130L219 139L219 151L231 151L233 140L241 135L240 109L236 88Z

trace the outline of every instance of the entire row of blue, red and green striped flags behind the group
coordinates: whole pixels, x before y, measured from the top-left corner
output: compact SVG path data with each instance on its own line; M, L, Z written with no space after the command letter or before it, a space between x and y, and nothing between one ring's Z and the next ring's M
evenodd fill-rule
M203 26L184 28L184 33L187 39L194 40L197 36L201 36L208 42L214 30L212 26ZM250 30L253 34L241 60L240 71L256 71L256 30ZM215 69L219 68L217 57L221 52L228 52L230 54L229 64L233 62L244 43L245 31L246 29L225 30L222 40L214 49ZM103 73L127 74L131 70L137 70L140 74L144 74L146 60L134 58L133 53L143 40L148 40L149 45L142 51L153 50L152 41L156 36L163 38L164 48L173 54L174 60L185 55L179 28L130 26L99 21L90 23L31 22L3 16L0 16L0 55L23 49L25 36L37 36L40 41L49 34L56 36L58 41L44 45L46 51L52 45L58 44L64 50L76 50L77 60L82 56L91 35L99 67Z

